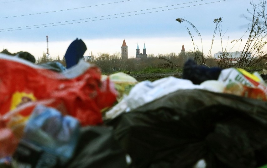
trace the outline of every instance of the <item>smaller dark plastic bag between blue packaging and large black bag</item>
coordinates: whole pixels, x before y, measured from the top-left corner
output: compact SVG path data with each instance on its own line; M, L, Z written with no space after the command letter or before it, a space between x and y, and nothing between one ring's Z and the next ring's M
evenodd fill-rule
M125 153L113 138L112 127L82 127L74 157L64 167L125 168Z

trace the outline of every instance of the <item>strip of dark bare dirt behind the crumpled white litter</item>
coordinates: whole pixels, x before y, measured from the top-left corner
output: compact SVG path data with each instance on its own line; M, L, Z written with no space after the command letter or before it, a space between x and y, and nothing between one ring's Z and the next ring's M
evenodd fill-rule
M171 73L139 73L139 74L129 74L132 77L134 77L137 81L141 82L144 80L149 80L149 81L155 81L161 78L169 77L169 76L174 76L176 78L182 78L182 73L181 72L171 72Z

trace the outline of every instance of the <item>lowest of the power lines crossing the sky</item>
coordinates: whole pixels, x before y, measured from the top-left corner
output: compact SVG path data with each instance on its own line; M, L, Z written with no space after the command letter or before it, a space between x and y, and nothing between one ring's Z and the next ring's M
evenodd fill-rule
M223 2L223 1L227 1L227 0L221 0L221 1L210 2L210 3L218 3L218 2ZM202 4L191 5L191 6L180 7L180 8L188 8L188 7L193 7L193 6L206 5L206 4L210 4L210 3L202 3ZM150 14L150 13L162 12L162 11L173 10L173 9L180 9L180 8L165 9L165 10L152 11L152 12L146 12L146 13L140 13L140 14ZM82 21L82 22L74 22L74 23L65 23L65 24L56 24L56 25L40 26L40 27L31 27L31 28L23 28L23 29L14 29L14 30L26 30L26 29L35 29L35 28L43 28L43 27L60 26L60 25L66 25L66 24L77 24L77 23L92 22L92 21L99 21L99 20L106 20L106 19L122 18L122 17L134 16L134 15L140 15L140 14L131 14L131 15L125 15L125 16L112 17L112 18L104 18L104 19L88 20L88 21ZM25 27L27 27L27 26L25 26ZM9 29L12 29L12 28L9 28ZM0 31L0 32L14 31L14 30L2 29L2 31Z

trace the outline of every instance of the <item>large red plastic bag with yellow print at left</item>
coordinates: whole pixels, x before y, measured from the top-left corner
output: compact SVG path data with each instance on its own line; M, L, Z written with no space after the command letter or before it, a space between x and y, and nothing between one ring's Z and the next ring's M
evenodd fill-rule
M1 115L27 102L53 99L52 107L76 117L82 125L96 125L102 123L103 105L112 106L116 101L109 87L100 90L100 69L84 61L57 73L1 54L0 69ZM30 112L23 110L22 114Z

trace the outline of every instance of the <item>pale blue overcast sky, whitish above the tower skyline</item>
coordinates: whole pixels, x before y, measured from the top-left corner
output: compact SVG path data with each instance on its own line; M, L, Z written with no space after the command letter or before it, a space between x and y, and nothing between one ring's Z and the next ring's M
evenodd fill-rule
M89 55L121 52L123 39L128 57L135 57L137 43L147 54L158 55L193 50L186 26L195 44L202 48L191 26L178 23L184 18L202 35L203 52L207 55L215 24L222 18L223 48L240 38L247 29L251 9L249 0L0 0L0 47L14 53L28 51L36 58L46 52L49 35L50 56L62 57L70 43L82 39ZM254 0L254 2L259 2ZM212 54L221 51L216 35ZM241 51L238 44L232 51ZM1 51L2 51L1 49ZM140 52L141 52L140 51Z

